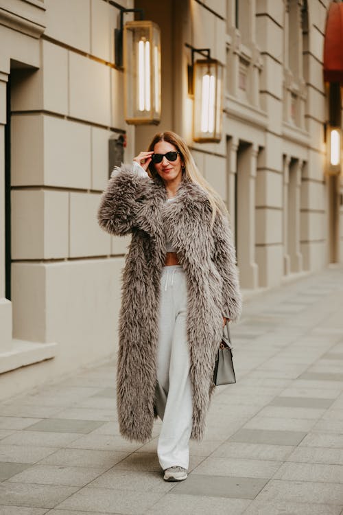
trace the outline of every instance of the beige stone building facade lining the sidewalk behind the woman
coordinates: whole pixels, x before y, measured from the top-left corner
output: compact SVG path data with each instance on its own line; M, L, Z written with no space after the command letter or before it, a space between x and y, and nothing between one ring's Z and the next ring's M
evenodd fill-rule
M159 126L125 122L114 42L121 7L143 8L161 27ZM129 239L99 229L97 206L121 152L131 161L156 131L185 137L222 194L242 288L342 262L343 183L325 165L328 7L0 1L0 398L115 356ZM224 63L220 143L192 140L189 45Z

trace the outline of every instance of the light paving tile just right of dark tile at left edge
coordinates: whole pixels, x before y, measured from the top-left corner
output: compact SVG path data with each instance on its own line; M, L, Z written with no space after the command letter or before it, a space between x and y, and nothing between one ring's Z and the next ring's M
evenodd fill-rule
M11 477L10 483L35 483L39 485L84 486L102 474L102 468L61 467L35 465Z

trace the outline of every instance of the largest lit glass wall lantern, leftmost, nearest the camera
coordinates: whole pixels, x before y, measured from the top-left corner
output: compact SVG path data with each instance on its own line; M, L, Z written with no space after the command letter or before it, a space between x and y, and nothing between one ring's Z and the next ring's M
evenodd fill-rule
M161 120L161 32L153 21L143 19L142 9L120 10L120 27L115 30L115 65L124 71L126 123L158 124ZM123 14L139 12L139 21L123 24Z

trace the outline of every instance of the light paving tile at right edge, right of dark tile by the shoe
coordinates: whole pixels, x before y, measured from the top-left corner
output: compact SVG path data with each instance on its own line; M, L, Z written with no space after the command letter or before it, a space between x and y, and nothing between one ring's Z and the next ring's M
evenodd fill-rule
M337 483L271 480L257 497L261 503L313 503L343 505L343 488ZM326 515L326 512L324 512ZM324 515L324 514L323 514Z

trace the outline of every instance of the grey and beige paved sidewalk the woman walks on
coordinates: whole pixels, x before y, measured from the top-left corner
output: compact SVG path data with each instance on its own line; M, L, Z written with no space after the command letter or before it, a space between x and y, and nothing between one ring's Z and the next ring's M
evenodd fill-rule
M115 364L0 405L0 515L342 515L343 268L246 301L237 385L220 387L191 473L119 436Z

